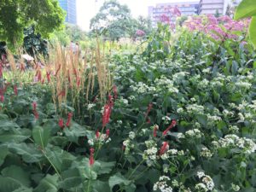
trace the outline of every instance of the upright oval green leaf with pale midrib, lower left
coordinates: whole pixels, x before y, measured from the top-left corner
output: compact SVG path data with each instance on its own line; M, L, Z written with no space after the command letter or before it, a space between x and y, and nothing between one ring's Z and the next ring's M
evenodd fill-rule
M49 127L37 126L32 130L32 137L39 146L45 148L49 142L50 129Z

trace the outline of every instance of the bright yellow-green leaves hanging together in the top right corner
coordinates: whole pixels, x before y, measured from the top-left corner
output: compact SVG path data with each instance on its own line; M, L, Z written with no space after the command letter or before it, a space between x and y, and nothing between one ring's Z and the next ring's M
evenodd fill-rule
M256 48L256 2L253 0L243 0L236 9L235 20L240 20L247 17L253 18L249 26L249 36L254 48Z

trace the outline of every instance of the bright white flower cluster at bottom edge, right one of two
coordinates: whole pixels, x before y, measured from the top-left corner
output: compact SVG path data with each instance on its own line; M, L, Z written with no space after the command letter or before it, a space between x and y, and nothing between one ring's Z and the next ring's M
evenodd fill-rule
M204 191L212 191L214 189L214 183L212 177L206 175L204 172L197 172L197 177L201 179L202 183L197 183L195 185L195 189L204 190Z

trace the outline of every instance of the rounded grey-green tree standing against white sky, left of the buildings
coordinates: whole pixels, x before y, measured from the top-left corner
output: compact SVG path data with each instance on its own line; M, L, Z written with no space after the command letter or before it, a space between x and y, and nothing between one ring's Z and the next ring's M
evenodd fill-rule
M105 30L105 36L111 40L118 40L128 35L131 29L131 10L116 0L103 3L99 13L90 20L93 32Z

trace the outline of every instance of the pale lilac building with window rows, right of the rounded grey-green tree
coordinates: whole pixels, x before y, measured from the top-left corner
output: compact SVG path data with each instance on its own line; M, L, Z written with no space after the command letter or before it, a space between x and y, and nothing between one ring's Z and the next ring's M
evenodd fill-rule
M197 14L198 1L196 2L177 2L177 3L157 3L155 6L148 7L148 17L152 20L152 26L157 26L157 23L162 21L163 17L174 22L176 19L175 12L180 15L195 15Z

